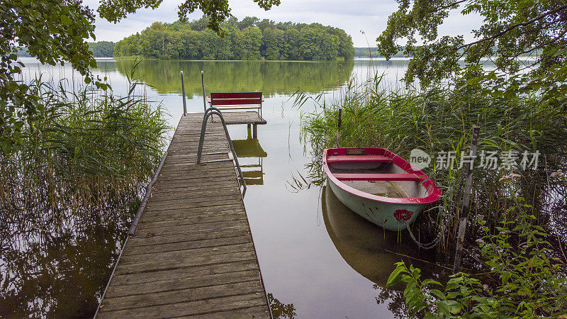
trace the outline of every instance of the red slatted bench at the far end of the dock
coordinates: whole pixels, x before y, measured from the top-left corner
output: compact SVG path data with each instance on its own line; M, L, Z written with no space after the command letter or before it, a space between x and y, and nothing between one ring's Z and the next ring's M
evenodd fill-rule
M220 111L257 108L262 116L264 95L262 92L211 93L210 96L207 96L207 101L210 106Z

